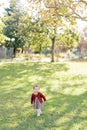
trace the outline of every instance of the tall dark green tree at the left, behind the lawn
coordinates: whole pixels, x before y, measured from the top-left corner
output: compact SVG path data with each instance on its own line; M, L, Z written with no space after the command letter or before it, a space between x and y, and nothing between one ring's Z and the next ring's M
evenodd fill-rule
M4 18L4 34L10 39L6 42L6 47L14 48L14 57L17 48L23 48L25 44L23 33L25 26L24 15L25 10L21 7L20 0L11 0L10 7L6 9L6 15Z

